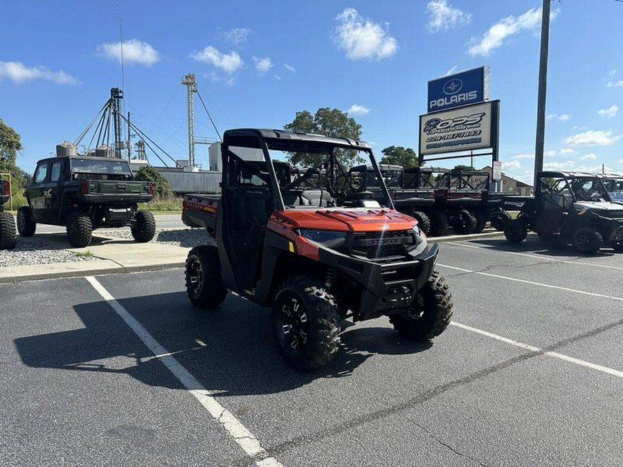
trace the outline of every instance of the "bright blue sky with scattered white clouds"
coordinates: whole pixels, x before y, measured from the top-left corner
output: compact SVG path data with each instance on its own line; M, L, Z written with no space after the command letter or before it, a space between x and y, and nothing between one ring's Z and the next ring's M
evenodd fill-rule
M428 80L488 65L500 161L532 180L541 0L34 1L3 4L0 118L18 164L75 140L123 87L125 112L188 158L186 87L217 128L282 128L297 111L347 111L377 158L417 151ZM623 172L623 3L552 1L545 167ZM124 77L119 60L123 28ZM123 85L122 85L123 84ZM195 136L216 138L195 98ZM207 166L207 147L195 149ZM150 156L150 154L147 154ZM150 157L154 165L159 161ZM469 163L454 160L455 163ZM488 163L477 158L474 165Z

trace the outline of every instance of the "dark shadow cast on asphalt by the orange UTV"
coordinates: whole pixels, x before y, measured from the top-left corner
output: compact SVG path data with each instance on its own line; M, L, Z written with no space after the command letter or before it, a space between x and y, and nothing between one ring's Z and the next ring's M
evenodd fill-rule
M118 302L197 380L219 396L273 394L317 378L345 377L374 354L415 354L431 342L410 342L387 327L345 322L341 348L329 365L296 372L278 355L269 309L228 295L219 309L198 311L185 293ZM30 367L126 374L151 386L183 389L104 301L74 306L84 328L17 338ZM383 318L379 318L383 319Z

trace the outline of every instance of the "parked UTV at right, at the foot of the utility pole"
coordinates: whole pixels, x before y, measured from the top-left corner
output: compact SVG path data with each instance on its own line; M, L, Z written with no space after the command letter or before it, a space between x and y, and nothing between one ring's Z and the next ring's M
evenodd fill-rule
M572 244L591 255L603 246L623 250L623 206L615 204L602 178L584 172L539 172L534 198L517 197L521 203L516 220L504 235L521 242L528 230L541 239Z

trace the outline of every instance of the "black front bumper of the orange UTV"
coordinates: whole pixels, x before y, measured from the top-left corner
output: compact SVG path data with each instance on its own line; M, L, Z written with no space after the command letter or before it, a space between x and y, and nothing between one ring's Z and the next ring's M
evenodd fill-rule
M374 262L360 257L320 248L320 262L341 271L360 290L356 320L369 320L381 315L401 313L408 308L419 289L431 277L439 247L426 246L417 256L408 255L400 262Z

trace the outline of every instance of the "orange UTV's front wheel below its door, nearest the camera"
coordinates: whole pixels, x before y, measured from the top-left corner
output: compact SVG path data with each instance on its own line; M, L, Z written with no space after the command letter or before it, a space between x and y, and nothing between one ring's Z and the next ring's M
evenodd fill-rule
M273 331L285 362L312 372L334 358L340 343L338 306L323 282L308 276L286 279L277 289Z

